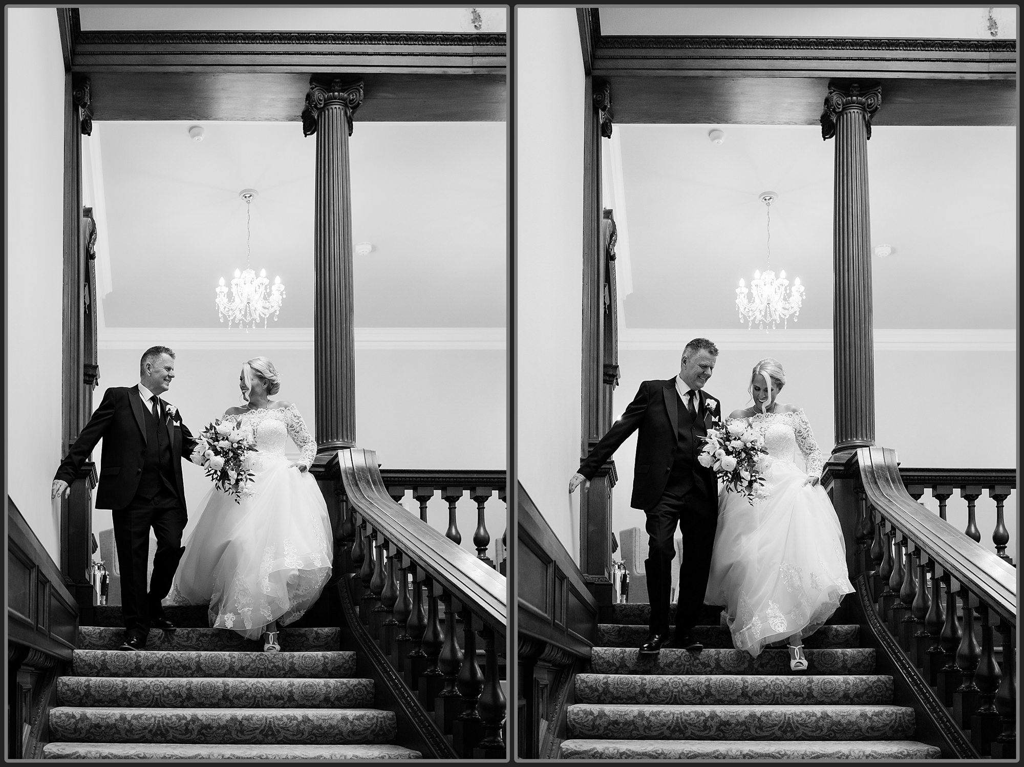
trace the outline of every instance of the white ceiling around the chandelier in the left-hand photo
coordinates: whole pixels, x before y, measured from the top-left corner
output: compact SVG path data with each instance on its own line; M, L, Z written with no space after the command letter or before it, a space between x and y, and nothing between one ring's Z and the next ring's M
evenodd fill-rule
M315 137L215 122L196 142L191 125L97 122L83 139L99 148L105 326L223 327L214 289L245 268L252 187L252 266L286 286L276 327L311 327ZM505 326L506 124L356 119L349 147L352 239L374 245L354 257L355 324Z

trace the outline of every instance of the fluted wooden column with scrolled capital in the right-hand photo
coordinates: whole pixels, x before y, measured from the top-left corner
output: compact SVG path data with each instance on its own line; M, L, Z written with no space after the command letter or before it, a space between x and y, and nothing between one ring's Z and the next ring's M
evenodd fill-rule
M874 444L874 350L871 331L871 226L867 140L882 105L877 82L828 83L821 137L836 138L833 220L836 448Z

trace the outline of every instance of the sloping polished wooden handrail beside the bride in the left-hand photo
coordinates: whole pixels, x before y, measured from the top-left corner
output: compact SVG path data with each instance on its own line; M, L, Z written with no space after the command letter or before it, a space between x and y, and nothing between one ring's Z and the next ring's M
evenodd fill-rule
M505 577L395 503L381 477L375 451L353 448L338 451L337 455L352 508L431 579L471 606L485 625L504 636L508 600Z

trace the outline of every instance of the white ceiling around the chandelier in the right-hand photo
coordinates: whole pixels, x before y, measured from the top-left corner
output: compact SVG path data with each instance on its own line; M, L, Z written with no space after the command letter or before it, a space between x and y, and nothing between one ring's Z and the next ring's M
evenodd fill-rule
M714 127L725 132L718 145ZM871 243L894 248L871 257L876 328L1016 328L1016 134L874 129ZM807 291L790 327L831 327L835 140L817 127L740 125L616 125L613 139L624 198L614 205L628 226L620 269L633 283L627 328L745 328L735 289L765 268L768 190L778 193L771 264Z

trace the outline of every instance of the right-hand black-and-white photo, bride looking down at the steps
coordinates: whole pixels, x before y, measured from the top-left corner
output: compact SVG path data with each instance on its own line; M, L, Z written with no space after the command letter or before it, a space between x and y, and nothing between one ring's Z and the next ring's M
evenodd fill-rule
M1016 760L1018 6L517 6L520 760Z

